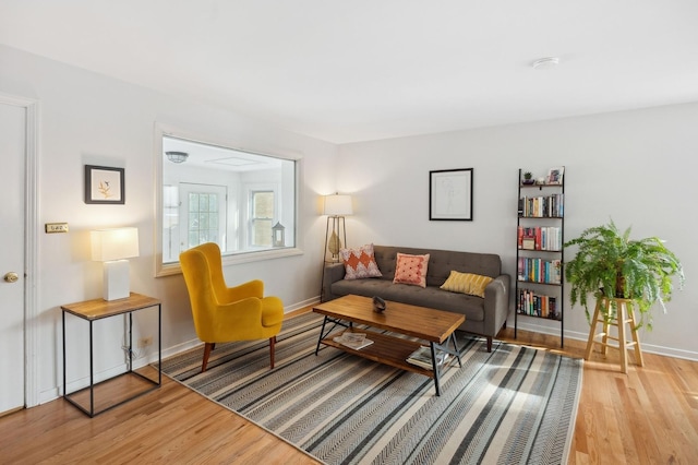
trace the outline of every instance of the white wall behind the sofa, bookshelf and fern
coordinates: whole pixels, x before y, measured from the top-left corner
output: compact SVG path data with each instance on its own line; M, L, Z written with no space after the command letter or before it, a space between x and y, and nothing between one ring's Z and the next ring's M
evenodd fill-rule
M564 165L566 240L613 218L635 238L665 239L678 255L686 287L640 337L645 350L698 359L696 128L698 104L688 104L342 145L338 189L354 196L347 240L494 252L515 276L518 168L538 177ZM429 171L471 167L473 222L430 222ZM583 308L566 306L566 336L586 339ZM547 321L519 322L559 334Z

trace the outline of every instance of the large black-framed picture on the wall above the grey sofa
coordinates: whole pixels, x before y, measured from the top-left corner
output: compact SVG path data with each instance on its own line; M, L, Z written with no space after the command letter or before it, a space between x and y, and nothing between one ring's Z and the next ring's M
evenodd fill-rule
M472 171L429 171L429 219L472 220Z

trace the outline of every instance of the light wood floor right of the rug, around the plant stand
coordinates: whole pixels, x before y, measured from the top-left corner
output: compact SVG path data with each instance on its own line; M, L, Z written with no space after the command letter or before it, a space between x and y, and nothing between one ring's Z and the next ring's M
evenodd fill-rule
M507 329L500 337L583 358L586 342ZM630 350L631 353L631 350ZM585 361L569 464L698 464L698 362L643 353L645 367L618 350Z

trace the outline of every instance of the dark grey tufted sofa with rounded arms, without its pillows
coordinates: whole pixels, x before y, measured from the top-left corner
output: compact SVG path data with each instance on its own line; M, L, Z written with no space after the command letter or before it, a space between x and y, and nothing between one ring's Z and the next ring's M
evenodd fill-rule
M325 264L323 301L354 294L365 297L380 296L385 300L462 313L466 321L459 330L485 336L488 351L492 350L492 338L506 324L509 311L510 277L502 274L500 255L388 246L374 246L373 249L383 276L345 279L342 263ZM393 283L397 252L430 254L425 288ZM452 270L485 275L494 279L485 288L484 298L440 289Z

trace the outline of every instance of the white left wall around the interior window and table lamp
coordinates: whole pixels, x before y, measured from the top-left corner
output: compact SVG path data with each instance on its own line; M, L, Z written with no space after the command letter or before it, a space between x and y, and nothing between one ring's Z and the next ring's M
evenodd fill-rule
M39 225L67 222L69 234L39 235L38 386L41 402L62 384L60 306L101 296L101 264L89 260L89 230L139 227L141 257L131 260L133 291L163 300L163 347L195 342L181 275L154 277L155 123L269 154L301 155L298 247L305 253L226 270L230 283L261 278L281 297L287 311L318 296L324 219L318 196L334 192L336 147L254 121L241 115L178 98L0 46L0 92L40 105ZM158 157L159 159L159 157ZM83 202L83 165L125 168L125 205ZM302 276L303 278L291 278ZM157 335L154 312L136 313L135 337ZM87 326L69 320L69 385L85 381ZM123 362L123 321L97 323L97 371ZM151 348L151 351L153 348ZM146 357L152 354L145 354Z

